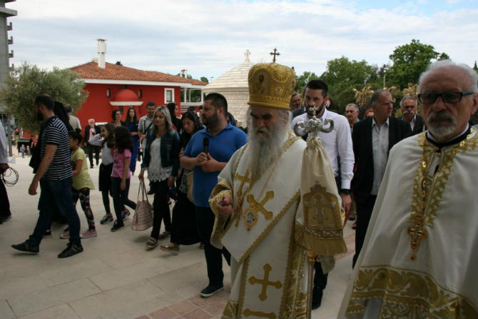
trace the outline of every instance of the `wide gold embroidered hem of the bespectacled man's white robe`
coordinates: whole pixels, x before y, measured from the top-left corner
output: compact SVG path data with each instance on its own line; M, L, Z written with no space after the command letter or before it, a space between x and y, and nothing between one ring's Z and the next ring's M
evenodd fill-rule
M427 273L390 266L360 268L346 315L361 318L367 300L380 298L380 318L477 318L462 295L442 288Z

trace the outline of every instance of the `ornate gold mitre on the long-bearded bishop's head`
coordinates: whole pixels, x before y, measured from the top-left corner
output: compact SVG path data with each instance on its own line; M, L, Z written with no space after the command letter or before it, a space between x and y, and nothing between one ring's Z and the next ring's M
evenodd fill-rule
M249 70L249 105L290 109L295 72L276 63L255 64Z

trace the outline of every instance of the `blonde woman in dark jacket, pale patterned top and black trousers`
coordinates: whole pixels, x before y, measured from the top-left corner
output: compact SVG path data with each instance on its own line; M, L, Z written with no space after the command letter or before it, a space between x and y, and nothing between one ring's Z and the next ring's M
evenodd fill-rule
M156 108L153 116L153 127L146 136L143 163L139 178L144 178L144 171L148 169L148 179L151 190L154 191L153 201L153 230L146 248L153 249L158 240L171 234L171 215L168 206L168 189L178 176L179 167L179 136L172 128L171 115L168 108ZM159 233L161 221L164 220L165 231Z

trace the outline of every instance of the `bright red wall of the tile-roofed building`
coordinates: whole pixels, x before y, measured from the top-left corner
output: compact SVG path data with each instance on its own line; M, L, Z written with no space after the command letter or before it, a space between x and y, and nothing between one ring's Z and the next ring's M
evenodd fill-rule
M106 89L110 89L111 96L106 96ZM82 128L88 125L88 119L94 118L95 122L111 122L111 112L113 109L118 109L120 106L111 106L110 102L115 101L114 97L116 93L128 88L131 91L138 94L141 89L143 91L143 97L138 98L138 101L143 101L141 106L134 106L136 109L136 116L138 119L141 116L146 115L146 104L150 101L156 103L156 106L164 106L164 89L174 88L174 101L180 106L180 86L138 86L138 85L121 85L121 84L94 84L86 83L85 89L89 95L86 98L85 103L75 114L78 116L81 122ZM123 117L126 117L126 111L129 106L123 106Z

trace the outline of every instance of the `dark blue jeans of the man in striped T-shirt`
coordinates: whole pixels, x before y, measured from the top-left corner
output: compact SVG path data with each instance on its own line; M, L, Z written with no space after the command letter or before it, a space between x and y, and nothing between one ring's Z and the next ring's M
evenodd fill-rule
M76 213L76 208L71 200L71 177L59 181L42 178L40 188L38 204L40 215L36 221L34 233L29 238L30 243L32 245L40 244L46 230L50 228L52 208L55 204L61 215L65 216L68 221L70 243L81 243L80 218L78 218L78 213Z

